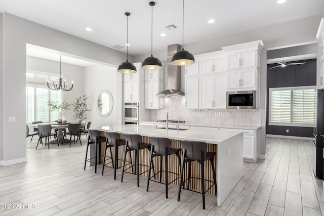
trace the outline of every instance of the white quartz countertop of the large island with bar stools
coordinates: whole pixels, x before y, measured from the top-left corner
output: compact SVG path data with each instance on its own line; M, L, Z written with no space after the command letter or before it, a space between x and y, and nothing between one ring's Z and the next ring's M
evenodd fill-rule
M99 131L112 131L120 134L139 134L146 137L166 137L173 140L203 141L211 144L221 144L221 142L232 138L241 132L219 131L217 128L194 128L185 131L175 129L155 128L152 125L123 124L112 126L92 127Z

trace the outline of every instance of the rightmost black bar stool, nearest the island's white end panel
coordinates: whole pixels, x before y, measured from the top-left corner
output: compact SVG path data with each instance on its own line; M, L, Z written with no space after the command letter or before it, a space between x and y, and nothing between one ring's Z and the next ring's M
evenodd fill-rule
M201 192L194 191L194 190L190 190L190 191L203 194L203 209L205 209L205 193L209 191L214 185L215 185L215 193L217 195L216 173L215 173L215 166L214 166L214 156L216 156L216 153L207 152L207 143L205 142L181 141L181 145L182 145L182 165L180 171L181 180L183 179L183 169L185 163L189 162L189 167L188 167L188 178L184 182L181 181L182 183L179 184L178 201L180 201L181 185L183 185L183 189L185 189L184 183L188 180L187 190L190 190L189 189L190 178L199 179L196 177L191 177L191 162L198 161L201 165ZM214 180L214 181L210 181L213 182L213 184L207 190L205 190L205 161L206 160L209 160L211 162L212 171L213 171L213 180Z

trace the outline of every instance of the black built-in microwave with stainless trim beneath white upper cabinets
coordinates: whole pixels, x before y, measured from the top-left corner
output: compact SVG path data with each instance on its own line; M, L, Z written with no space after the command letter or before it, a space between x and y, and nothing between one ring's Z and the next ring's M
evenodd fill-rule
M257 91L226 92L226 109L256 109Z

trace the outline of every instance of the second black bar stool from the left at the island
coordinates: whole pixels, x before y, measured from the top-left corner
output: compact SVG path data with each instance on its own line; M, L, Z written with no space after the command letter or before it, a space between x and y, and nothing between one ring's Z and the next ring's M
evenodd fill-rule
M103 170L104 170L105 166L108 166L111 163L112 167L114 169L113 177L114 177L114 180L116 180L116 169L119 168L118 167L118 148L119 148L119 146L125 145L126 141L120 140L119 134L115 133L115 132L106 132L106 138L107 138L106 139L106 148L105 148L105 154L103 156L103 165L102 165L102 174L101 175L103 176ZM114 148L115 161L113 161L111 147L115 147ZM106 156L106 152L107 152L108 148L110 150L110 157ZM111 159L111 162L106 163L106 160L109 160L109 159ZM111 167L111 166L108 166L108 167Z

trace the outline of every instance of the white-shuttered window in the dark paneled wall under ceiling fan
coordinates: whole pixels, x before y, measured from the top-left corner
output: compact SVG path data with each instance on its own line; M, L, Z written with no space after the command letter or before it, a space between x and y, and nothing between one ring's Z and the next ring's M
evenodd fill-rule
M269 125L316 124L316 87L269 89Z

